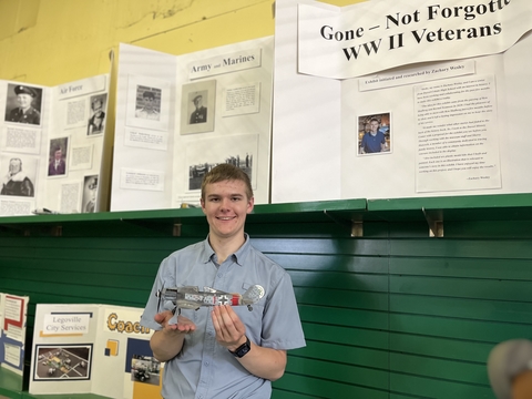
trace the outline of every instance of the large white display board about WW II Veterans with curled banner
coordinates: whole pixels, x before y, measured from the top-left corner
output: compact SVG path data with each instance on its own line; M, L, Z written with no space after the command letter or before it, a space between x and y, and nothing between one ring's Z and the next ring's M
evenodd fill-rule
M530 1L276 1L272 202L531 192L530 29Z

